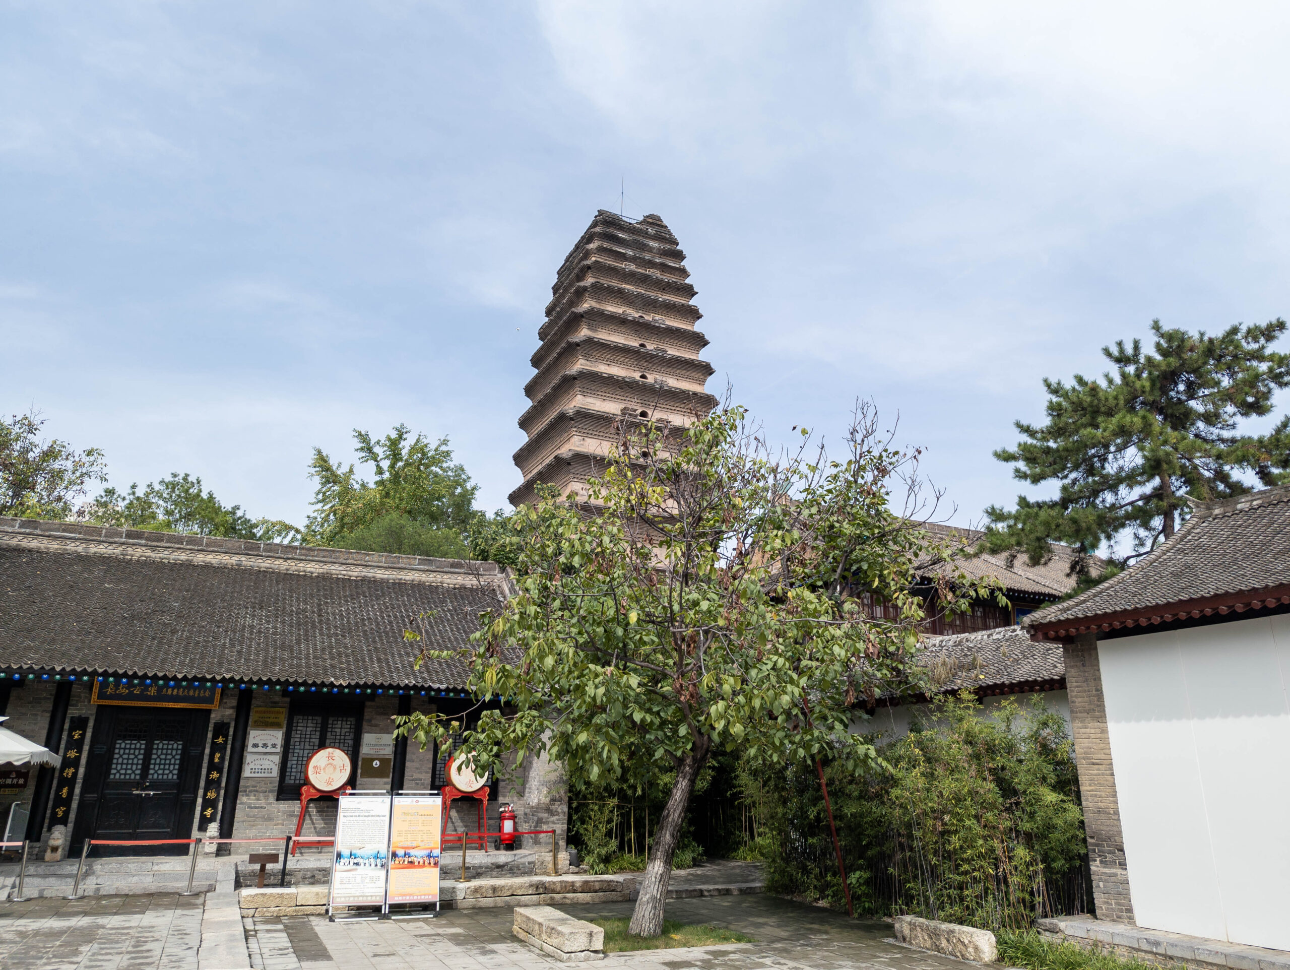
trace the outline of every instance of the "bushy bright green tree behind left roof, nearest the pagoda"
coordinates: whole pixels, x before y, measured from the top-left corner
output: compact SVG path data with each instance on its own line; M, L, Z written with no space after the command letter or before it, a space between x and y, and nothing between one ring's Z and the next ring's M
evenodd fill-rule
M310 544L418 556L468 556L464 535L479 513L477 485L453 462L448 439L431 444L399 424L382 439L355 428L359 458L372 464L368 482L353 464L343 467L313 449L310 477L317 481L313 513L304 528ZM409 440L410 439L410 440Z

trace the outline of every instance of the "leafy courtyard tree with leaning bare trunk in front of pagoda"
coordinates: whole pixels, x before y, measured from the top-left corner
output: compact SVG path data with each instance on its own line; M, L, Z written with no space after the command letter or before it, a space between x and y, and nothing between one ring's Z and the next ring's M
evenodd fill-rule
M675 770L633 934L662 931L685 809L713 752L768 769L873 762L850 729L863 699L907 677L929 557L949 560L939 609L998 595L958 574L955 551L911 515L930 506L918 454L893 449L869 409L837 455L802 433L795 453L773 453L730 406L684 433L624 430L584 500L547 493L513 517L516 593L464 651L481 713L457 751L476 766L546 752L588 780ZM875 600L888 619L866 610ZM457 728L400 718L423 747Z

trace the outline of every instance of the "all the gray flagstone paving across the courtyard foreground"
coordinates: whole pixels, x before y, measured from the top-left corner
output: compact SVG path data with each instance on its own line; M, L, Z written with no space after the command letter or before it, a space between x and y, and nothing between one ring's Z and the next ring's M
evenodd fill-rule
M560 907L579 918L628 916L631 903ZM890 940L890 924L771 895L673 899L668 918L707 922L756 943L610 955L604 970L969 970ZM561 966L511 935L512 911L446 909L432 920L246 920L257 970L535 970ZM208 922L209 926L209 922ZM196 970L201 896L154 894L0 903L5 970ZM209 943L209 942L208 942ZM203 955L201 966L210 964ZM239 961L240 962L240 961ZM246 966L246 964L241 964Z

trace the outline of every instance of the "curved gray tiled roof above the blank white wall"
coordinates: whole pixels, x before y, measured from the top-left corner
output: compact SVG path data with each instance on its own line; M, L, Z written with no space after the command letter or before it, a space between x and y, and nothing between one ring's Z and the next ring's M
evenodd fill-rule
M1200 506L1149 556L1067 602L1032 613L1024 626L1285 584L1290 584L1290 485Z

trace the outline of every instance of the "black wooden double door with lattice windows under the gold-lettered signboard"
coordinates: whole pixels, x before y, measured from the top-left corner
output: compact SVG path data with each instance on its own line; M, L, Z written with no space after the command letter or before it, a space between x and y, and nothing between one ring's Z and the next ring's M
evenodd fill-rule
M74 842L191 837L209 720L208 711L99 708ZM95 854L187 850L103 846Z

